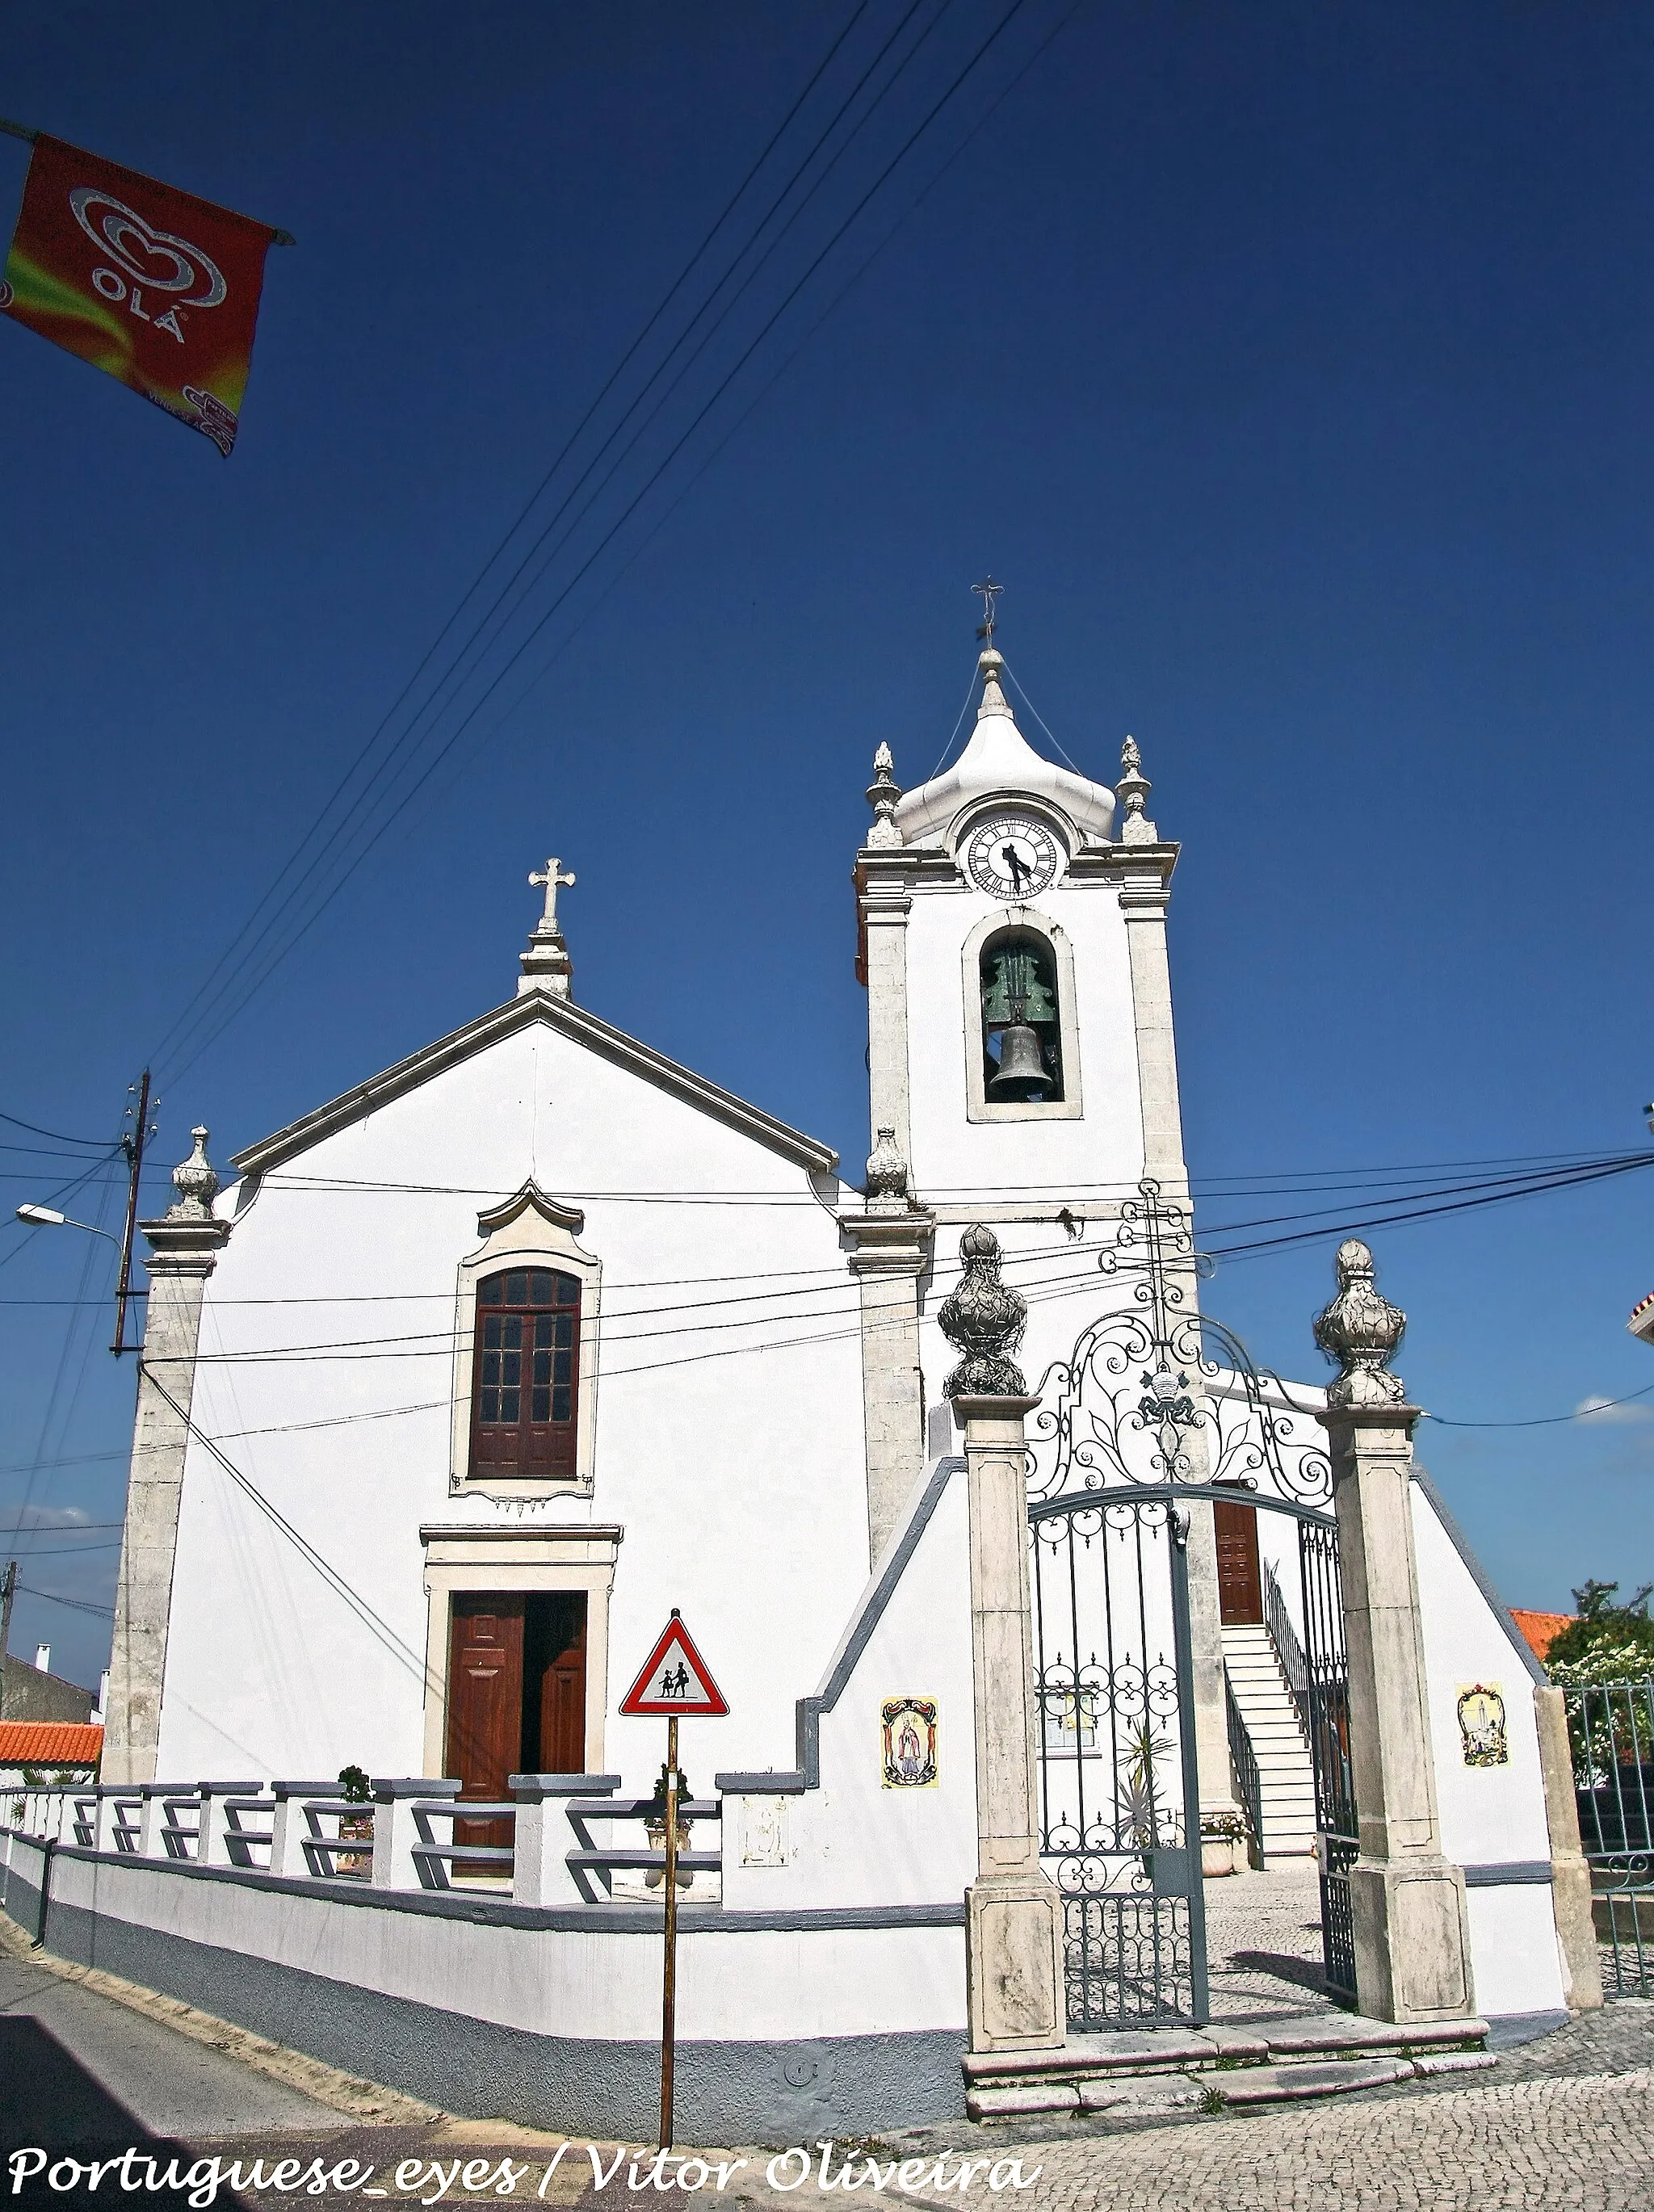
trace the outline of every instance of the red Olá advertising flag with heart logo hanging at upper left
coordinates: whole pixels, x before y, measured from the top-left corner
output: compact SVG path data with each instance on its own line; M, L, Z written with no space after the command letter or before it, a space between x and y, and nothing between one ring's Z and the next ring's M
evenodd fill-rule
M0 307L228 456L274 237L265 223L42 133Z

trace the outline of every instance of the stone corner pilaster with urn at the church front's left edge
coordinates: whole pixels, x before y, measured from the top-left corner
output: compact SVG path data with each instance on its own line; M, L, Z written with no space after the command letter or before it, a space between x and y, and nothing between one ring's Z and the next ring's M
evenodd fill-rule
M208 1133L197 1128L190 1135L195 1150L172 1170L177 1203L159 1221L142 1223L150 1248L144 1261L150 1296L137 1365L133 1469L126 1480L115 1639L108 1655L100 1770L106 1783L155 1781L201 1298L230 1234L230 1223L212 1214L219 1177L206 1157Z

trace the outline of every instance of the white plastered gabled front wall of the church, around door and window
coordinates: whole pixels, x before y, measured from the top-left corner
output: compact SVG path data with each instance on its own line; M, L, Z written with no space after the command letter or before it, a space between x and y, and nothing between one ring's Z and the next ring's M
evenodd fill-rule
M604 1316L593 1495L517 1506L449 1495L451 1327L478 1212L526 1179L584 1208ZM840 1270L798 1164L542 1024L265 1177L208 1285L195 1420L338 1582L192 1440L159 1772L418 1774L420 1524L500 1520L524 1535L621 1524L610 1714L681 1606L734 1708L716 1743L710 1723L705 1745L690 1732L685 1765L774 1756L867 1573L856 1290ZM807 1285L807 1318L785 1332L774 1298L685 1310L776 1283ZM334 1354L270 1358L321 1345ZM610 1719L604 1759L628 1790L648 1787L659 1736Z

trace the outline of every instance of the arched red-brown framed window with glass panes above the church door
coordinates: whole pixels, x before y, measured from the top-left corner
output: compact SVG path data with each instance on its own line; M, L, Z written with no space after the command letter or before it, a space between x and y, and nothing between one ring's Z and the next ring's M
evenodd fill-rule
M506 1267L478 1283L471 1475L575 1473L579 1281Z

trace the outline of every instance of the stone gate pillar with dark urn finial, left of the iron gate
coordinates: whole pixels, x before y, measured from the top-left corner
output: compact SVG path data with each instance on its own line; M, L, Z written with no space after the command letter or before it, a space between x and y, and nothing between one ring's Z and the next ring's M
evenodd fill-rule
M942 1301L964 1352L946 1396L964 1422L971 1511L971 1677L977 1767L977 1878L964 1893L973 2051L1055 2051L1066 2042L1061 1900L1039 1865L1037 1697L1028 1604L1026 1396L1008 1358L1028 1310L999 1281L999 1241L960 1239L964 1279Z

